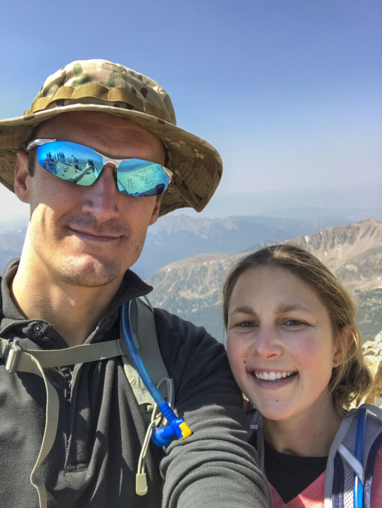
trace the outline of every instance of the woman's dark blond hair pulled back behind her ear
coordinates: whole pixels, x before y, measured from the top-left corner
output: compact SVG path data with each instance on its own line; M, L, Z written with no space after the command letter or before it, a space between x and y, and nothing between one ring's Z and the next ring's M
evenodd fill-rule
M269 245L241 258L229 270L223 286L223 319L226 328L234 285L243 272L259 265L282 267L297 275L309 284L327 308L333 337L342 355L342 362L333 368L329 387L337 410L344 414L353 401L360 403L372 382L371 371L362 354L354 298L333 273L307 250L290 243ZM352 342L347 349L345 335L348 337L349 334Z

